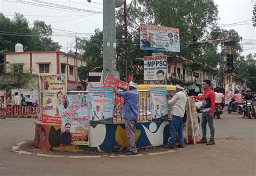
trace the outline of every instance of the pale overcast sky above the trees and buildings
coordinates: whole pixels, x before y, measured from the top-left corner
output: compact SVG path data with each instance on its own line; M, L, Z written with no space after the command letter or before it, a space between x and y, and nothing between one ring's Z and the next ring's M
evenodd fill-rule
M36 1L23 0L28 3L37 3ZM103 26L103 0L65 0L65 1L46 1L59 5L70 6L80 9L80 12L73 12L69 9L57 10L43 8L25 3L14 3L15 0L0 0L0 11L9 18L13 18L15 12L19 12L25 16L32 26L33 21L41 20L46 24L51 24L53 29L52 39L62 45L61 51L67 52L75 45L75 32L78 37L89 38L96 28L102 30ZM242 46L244 51L242 55L248 53L256 53L256 28L253 28L252 10L255 2L253 0L214 0L219 9L219 25L221 28L230 30L234 29L243 38ZM256 1L256 0L254 0ZM127 0L130 3L131 0ZM89 11L84 11L89 10ZM233 24L235 23L235 24ZM232 24L227 25L227 24ZM226 26L225 26L226 25ZM65 31L63 31L65 30ZM72 32L68 32L72 31ZM182 31L180 31L182 32Z

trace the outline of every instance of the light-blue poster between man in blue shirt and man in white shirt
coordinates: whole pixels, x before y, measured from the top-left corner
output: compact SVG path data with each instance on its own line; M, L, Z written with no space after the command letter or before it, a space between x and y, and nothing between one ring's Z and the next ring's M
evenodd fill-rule
M168 119L168 105L166 87L153 87L150 89L152 121Z

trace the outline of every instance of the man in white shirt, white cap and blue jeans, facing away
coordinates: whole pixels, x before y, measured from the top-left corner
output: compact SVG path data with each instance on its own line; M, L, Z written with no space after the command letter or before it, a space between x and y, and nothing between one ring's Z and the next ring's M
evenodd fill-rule
M165 145L164 148L175 148L175 141L177 132L179 135L179 145L177 147L183 148L183 117L185 114L185 107L187 104L187 96L184 93L183 85L176 85L176 92L171 100L168 101L171 106L171 139L169 144Z

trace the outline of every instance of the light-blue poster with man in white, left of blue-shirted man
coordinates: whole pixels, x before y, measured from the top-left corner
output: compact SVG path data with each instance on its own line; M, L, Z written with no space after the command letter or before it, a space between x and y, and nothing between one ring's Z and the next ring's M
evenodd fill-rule
M113 123L113 87L89 87L90 123Z

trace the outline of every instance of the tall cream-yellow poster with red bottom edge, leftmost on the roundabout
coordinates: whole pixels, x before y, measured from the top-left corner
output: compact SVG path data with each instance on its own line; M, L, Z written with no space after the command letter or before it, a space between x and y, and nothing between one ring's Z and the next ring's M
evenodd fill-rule
M66 94L65 75L42 76L42 121L60 124L62 95Z

